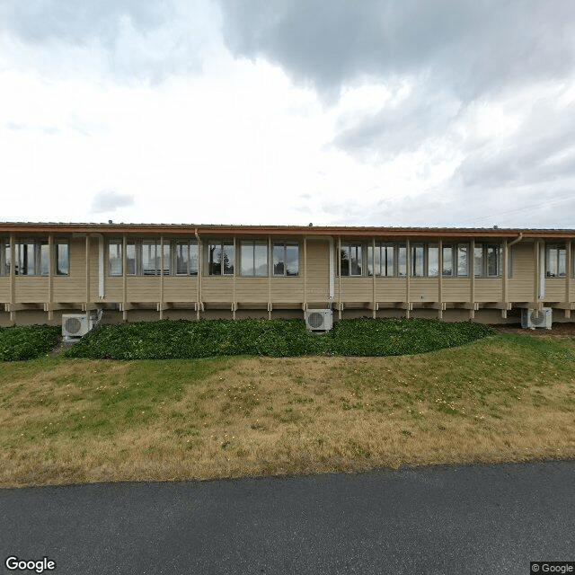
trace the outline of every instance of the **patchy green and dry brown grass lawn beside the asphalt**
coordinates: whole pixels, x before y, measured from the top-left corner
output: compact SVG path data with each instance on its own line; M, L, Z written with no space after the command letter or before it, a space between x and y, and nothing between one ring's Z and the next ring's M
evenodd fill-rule
M387 358L0 364L0 485L575 456L575 340Z

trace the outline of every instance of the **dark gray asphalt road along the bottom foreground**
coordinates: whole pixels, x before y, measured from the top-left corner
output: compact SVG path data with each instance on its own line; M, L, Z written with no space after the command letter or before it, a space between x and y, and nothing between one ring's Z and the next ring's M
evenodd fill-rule
M527 574L575 561L574 480L565 461L0 490L0 572Z

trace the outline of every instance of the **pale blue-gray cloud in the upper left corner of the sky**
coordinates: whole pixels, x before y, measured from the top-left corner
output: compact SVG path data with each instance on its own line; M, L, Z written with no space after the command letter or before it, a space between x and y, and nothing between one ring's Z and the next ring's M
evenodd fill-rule
M19 67L159 82L199 70L217 18L206 0L5 0L0 39Z

